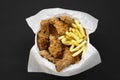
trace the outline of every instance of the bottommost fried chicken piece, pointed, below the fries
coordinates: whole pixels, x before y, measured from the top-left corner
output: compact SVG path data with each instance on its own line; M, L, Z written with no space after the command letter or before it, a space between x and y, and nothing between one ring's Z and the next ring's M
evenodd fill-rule
M80 57L72 57L72 53L70 52L69 48L66 47L63 53L63 59L56 62L55 67L58 72L60 72L63 68L74 64L80 60Z

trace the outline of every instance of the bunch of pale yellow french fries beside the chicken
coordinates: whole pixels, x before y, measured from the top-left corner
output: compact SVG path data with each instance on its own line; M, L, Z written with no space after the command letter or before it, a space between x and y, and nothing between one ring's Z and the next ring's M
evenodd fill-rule
M70 51L73 52L72 56L76 57L86 52L87 36L83 26L77 20L74 20L71 26L66 34L60 36L58 39L64 45L69 45Z

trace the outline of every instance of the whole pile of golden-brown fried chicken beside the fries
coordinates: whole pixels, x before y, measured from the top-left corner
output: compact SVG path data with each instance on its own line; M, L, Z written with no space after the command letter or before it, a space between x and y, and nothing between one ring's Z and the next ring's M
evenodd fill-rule
M69 16L53 17L40 22L40 31L37 33L37 44L40 55L55 64L56 70L75 64L81 59L81 55L73 57L70 46L62 44L58 39L71 27L73 19Z

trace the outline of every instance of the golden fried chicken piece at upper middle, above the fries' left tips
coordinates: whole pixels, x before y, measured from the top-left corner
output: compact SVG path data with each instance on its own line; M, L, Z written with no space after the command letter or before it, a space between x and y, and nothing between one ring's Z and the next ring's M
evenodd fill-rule
M69 29L69 25L65 24L63 21L60 21L58 18L50 18L49 22L50 24L53 24L59 35L64 35Z

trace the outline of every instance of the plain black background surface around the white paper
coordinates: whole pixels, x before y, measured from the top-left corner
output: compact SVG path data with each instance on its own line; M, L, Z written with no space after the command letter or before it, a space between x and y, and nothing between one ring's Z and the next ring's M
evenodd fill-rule
M116 0L4 0L0 2L0 80L119 80L119 2ZM29 50L34 33L25 18L44 8L61 7L87 12L99 19L90 42L98 49L102 63L81 74L58 77L28 73Z

